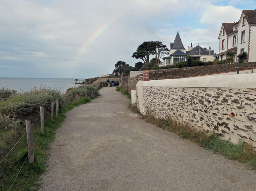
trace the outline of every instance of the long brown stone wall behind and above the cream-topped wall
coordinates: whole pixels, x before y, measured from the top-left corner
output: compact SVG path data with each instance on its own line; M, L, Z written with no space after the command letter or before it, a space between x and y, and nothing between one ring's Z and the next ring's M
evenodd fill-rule
M256 62L251 63L238 63L238 67L241 70L256 68ZM211 66L196 66L187 68L171 68L171 69L159 69L149 71L149 80L163 80L163 79L175 79L185 78L189 76L216 74L223 72L236 71L236 64L222 64ZM250 71L249 71L250 72Z

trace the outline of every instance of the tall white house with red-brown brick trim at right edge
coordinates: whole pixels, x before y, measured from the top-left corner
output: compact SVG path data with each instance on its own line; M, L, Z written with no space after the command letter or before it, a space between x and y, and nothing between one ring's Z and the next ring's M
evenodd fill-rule
M253 38L255 37L255 39ZM220 40L219 59L226 59L228 51L234 52L234 61L237 55L246 51L246 61L256 61L256 10L243 10L239 21L234 23L222 23L218 36Z

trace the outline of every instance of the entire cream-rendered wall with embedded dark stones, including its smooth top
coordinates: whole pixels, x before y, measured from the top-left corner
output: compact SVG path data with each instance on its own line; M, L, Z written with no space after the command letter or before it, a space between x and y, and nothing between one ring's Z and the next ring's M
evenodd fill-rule
M171 116L198 130L216 132L233 143L244 140L256 148L255 81L256 74L140 81L137 108L156 118Z

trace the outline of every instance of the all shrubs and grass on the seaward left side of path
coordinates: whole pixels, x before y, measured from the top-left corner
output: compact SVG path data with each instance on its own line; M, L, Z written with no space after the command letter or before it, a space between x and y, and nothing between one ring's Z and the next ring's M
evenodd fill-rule
M66 93L61 93L60 90L50 87L34 88L19 94L8 88L1 89L0 190L9 190L11 186L11 190L17 191L39 188L40 180L38 177L47 168L48 144L54 139L56 129L66 118L64 113L98 97L100 95L98 91L95 92L96 95L94 94L96 86L99 87L100 82L88 86L68 88ZM86 93L87 97L85 97ZM78 103L76 102L76 94L79 96ZM64 96L66 96L66 107L63 105ZM60 105L59 114L58 116L54 115L53 122L51 122L49 119L50 105L51 102L56 102L57 97ZM45 108L46 120L43 135L40 134L40 106ZM29 120L33 124L34 164L26 161L28 148L25 120Z

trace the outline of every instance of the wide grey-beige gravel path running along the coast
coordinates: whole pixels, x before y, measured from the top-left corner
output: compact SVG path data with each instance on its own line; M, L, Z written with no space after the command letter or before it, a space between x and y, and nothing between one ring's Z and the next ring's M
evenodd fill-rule
M67 113L41 191L256 190L243 164L138 119L115 87L100 93Z

